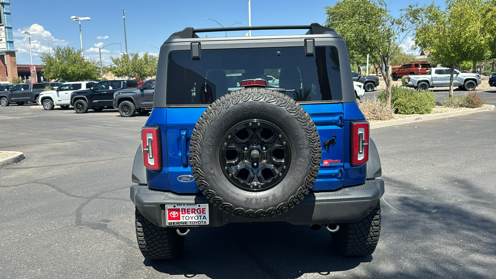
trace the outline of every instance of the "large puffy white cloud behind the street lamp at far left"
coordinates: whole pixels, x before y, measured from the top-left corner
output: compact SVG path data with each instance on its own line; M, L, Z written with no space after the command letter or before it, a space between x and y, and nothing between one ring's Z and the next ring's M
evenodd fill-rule
M48 40L50 40L50 51L53 52L56 46L66 46L69 42L55 38L50 31L45 30L43 26L39 24L33 24L29 28L17 29L13 31L14 35L14 47L17 50L17 63L19 64L29 64L29 37L22 34L21 31L29 31L30 33L37 32L38 34L31 34L31 51L33 53L33 63L41 63L38 56L42 53L48 53ZM43 36L43 37L39 37ZM27 55L26 55L27 54Z

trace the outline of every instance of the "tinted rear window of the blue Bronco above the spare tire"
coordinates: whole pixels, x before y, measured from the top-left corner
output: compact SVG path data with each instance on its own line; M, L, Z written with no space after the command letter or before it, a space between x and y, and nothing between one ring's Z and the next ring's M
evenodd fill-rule
M285 88L298 102L341 100L339 56L335 47L316 47L305 56L304 47L202 50L200 60L191 51L169 54L167 104L210 104L241 89L244 79L267 80L267 88Z

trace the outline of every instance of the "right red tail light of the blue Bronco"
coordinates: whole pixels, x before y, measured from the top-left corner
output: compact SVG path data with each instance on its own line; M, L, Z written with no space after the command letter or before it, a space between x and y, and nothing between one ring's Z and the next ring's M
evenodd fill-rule
M365 164L369 159L369 122L351 123L351 141L351 164Z

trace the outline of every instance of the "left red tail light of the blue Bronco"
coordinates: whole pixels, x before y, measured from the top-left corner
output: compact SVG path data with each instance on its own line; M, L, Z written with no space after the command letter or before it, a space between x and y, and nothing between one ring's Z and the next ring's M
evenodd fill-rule
M141 128L141 146L143 146L143 163L149 170L160 170L160 129L157 126Z

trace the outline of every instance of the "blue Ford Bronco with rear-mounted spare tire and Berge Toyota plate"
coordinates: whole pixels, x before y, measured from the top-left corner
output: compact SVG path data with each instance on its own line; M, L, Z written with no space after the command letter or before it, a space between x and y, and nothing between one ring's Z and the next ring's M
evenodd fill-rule
M248 28L308 32L197 35ZM233 222L324 227L346 256L377 245L379 155L355 101L345 41L331 28L172 34L141 136L130 198L146 259L174 259L191 229Z

